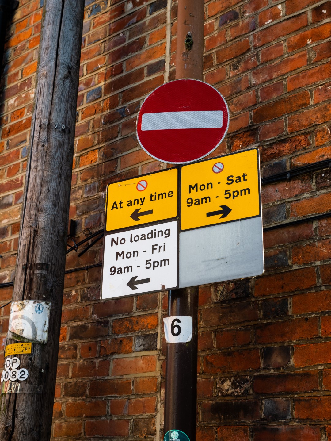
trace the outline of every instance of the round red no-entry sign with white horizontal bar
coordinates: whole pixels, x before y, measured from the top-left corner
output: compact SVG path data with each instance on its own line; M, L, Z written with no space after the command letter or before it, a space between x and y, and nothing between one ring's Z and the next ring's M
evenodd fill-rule
M222 142L229 119L227 103L214 87L194 79L175 80L153 90L142 103L138 141L159 161L197 161Z

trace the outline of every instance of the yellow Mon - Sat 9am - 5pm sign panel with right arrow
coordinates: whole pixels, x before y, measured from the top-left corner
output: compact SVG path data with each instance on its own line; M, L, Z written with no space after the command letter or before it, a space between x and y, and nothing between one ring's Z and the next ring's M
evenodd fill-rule
M181 230L260 216L258 149L183 165Z

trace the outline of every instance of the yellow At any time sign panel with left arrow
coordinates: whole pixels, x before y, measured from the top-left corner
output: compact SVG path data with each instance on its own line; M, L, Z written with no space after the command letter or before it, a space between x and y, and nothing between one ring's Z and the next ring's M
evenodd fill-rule
M177 168L109 184L106 231L177 217L178 188Z

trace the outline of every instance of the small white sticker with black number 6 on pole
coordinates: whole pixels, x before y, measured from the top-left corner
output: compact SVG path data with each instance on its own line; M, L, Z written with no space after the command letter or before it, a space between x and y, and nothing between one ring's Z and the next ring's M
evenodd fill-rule
M164 335L167 343L186 343L192 340L192 317L187 315L173 315L164 321Z

